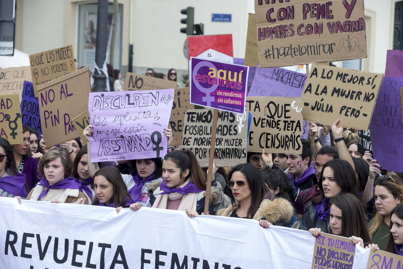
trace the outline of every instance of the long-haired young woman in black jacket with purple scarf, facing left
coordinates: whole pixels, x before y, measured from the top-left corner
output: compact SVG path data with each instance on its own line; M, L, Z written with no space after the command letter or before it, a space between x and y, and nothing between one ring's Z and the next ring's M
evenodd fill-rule
M320 175L318 184L320 193L305 206L300 229L320 228L322 232L330 231L330 199L343 193L351 193L362 202L355 179L355 171L344 160L328 161Z

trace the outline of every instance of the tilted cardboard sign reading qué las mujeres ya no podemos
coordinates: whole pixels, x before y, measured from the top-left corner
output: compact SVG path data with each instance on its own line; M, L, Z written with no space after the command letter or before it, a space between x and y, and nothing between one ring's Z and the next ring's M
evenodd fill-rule
M29 62L35 94L38 92L39 85L77 70L73 45L31 54Z

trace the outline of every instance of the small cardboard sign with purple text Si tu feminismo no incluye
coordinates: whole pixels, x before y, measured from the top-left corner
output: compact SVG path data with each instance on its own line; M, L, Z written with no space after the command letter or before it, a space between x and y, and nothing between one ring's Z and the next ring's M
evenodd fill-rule
M320 233L315 240L312 269L318 268L352 268L355 244L351 239Z

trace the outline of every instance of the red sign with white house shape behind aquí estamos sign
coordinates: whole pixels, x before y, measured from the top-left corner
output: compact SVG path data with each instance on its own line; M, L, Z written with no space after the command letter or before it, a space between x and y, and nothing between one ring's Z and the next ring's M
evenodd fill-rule
M187 37L187 49L188 60L191 57L198 57L226 63L231 60L231 63L233 63L233 60L228 58L233 58L232 34L189 35ZM211 57L207 55L208 53L210 53Z

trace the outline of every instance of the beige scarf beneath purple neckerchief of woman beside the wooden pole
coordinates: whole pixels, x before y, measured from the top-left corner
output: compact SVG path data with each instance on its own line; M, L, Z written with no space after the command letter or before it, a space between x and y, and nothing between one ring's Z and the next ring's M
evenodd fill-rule
M178 188L185 187L190 182L190 179L187 179L181 186ZM162 190L160 190L162 192ZM183 197L185 196L185 197ZM171 192L169 194L156 194L156 199L152 207L166 209L166 204L169 200L177 200L182 199L181 204L179 204L178 210L186 211L186 209L196 210L197 203L197 192L191 192L187 195L181 194L179 192Z

